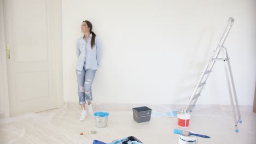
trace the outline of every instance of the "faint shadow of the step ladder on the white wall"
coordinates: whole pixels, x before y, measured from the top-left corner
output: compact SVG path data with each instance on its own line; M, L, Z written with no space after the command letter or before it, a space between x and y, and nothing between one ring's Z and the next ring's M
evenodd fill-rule
M210 29L210 30L208 30ZM187 104L191 93L199 80L205 63L210 59L210 53L214 50L214 33L212 27L207 27L201 31L200 37L197 40L193 51L184 53L184 57L190 61L184 65L185 70L181 74L181 80L176 85L177 104ZM190 49L188 47L187 49Z

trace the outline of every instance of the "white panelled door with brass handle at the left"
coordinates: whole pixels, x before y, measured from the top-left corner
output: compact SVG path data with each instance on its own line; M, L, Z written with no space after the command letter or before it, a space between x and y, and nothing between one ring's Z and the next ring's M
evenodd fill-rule
M5 45L10 116L58 107L54 77L56 8L51 0L5 0ZM61 74L59 74L61 75Z

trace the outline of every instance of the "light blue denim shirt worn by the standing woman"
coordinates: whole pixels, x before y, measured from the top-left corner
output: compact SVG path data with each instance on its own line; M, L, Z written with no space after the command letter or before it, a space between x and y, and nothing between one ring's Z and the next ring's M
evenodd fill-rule
M95 37L95 45L91 49L91 38L92 34L89 35L88 41L86 42L84 36L77 40L77 67L76 70L82 71L85 62L85 70L92 69L96 70L98 65L100 66L101 61L101 43L98 37Z

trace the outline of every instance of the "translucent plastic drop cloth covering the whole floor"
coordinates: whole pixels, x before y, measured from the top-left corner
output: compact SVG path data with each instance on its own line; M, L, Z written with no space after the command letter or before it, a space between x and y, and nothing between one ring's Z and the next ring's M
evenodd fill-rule
M106 128L95 127L94 116L79 121L78 103L66 103L61 109L0 119L0 143L89 143L94 140L112 142L120 137L134 136L139 141L150 143L178 143L174 129L191 130L211 136L198 138L202 143L256 143L256 113L252 106L240 106L242 124L235 132L234 118L230 105L197 105L190 113L188 128L177 125L177 117L154 117L149 122L133 120L132 108L148 106L159 113L182 110L185 105L132 105L93 104L94 111L109 112ZM80 135L96 130L96 134Z

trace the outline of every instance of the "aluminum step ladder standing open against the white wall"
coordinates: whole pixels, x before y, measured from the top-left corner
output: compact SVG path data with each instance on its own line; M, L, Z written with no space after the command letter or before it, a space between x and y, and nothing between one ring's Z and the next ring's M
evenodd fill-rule
M234 18L229 17L228 22L226 23L226 26L220 37L219 43L216 49L213 51L214 55L211 57L210 61L206 64L205 68L203 69L202 75L199 81L197 82L197 85L194 89L193 94L189 99L189 103L185 107L185 111L192 112L193 108L195 107L197 99L201 95L203 86L206 85L206 81L212 72L213 65L215 64L216 61L223 61L225 72L226 72L226 80L228 81L229 96L230 96L230 101L231 101L231 106L232 106L232 111L234 116L235 129L236 129L236 132L238 132L237 124L238 122L242 123L242 119L241 119L241 113L240 113L240 109L239 109L239 105L236 97L236 89L235 89L234 79L232 76L231 66L229 62L229 56L228 56L228 52L226 51L226 47L224 46L224 42L226 40L226 37L229 34L229 31L233 23L234 23ZM222 52L223 54L222 58L218 58L220 52Z

